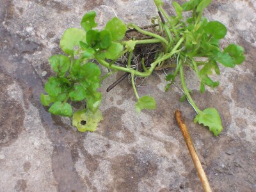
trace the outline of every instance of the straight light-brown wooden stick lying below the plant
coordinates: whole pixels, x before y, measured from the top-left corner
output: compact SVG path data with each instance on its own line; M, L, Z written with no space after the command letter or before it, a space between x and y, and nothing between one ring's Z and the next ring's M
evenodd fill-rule
M180 113L179 109L177 109L175 111L175 118L176 118L176 120L179 124L180 131L182 132L184 140L186 141L190 156L193 160L193 163L195 164L196 171L197 171L198 176L199 176L199 178L202 182L202 186L204 188L204 191L205 192L211 192L212 189L211 189L210 184L208 182L208 179L205 175L205 172L204 172L204 169L203 169L202 164L200 162L200 159L198 158L198 155L196 154L196 150L195 150L195 147L193 145L193 141L190 138L188 129L187 129L186 124L185 124L185 120L182 117L182 114Z

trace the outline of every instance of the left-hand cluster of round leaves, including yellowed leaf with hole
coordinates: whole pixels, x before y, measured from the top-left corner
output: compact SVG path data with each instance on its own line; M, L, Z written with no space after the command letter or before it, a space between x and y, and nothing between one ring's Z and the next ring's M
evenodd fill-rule
M115 59L123 51L118 43L125 35L126 26L122 20L109 20L102 31L97 27L95 12L84 15L81 26L83 29L70 28L63 34L60 47L63 54L51 56L49 63L56 72L45 83L45 92L41 94L44 106L50 106L49 112L54 115L73 116L73 125L81 132L95 131L102 120L99 111L102 95L97 92L100 87L100 68L92 59ZM86 108L73 113L68 103L86 100Z

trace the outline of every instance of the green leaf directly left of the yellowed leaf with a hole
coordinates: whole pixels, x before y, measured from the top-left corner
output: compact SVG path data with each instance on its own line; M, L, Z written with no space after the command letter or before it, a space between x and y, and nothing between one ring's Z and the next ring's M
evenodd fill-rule
M54 102L49 112L54 115L72 116L72 108L67 102L61 103L60 101Z

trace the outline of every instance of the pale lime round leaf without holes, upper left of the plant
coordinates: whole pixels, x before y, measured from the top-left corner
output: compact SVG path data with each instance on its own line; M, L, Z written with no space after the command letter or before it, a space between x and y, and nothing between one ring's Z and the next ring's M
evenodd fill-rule
M86 42L86 32L83 29L67 29L60 41L60 47L63 52L74 55L74 46L79 46L79 42Z

